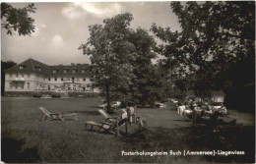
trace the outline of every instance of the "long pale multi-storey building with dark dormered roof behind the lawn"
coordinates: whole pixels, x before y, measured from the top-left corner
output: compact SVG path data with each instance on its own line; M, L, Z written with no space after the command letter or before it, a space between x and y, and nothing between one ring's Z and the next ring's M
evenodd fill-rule
M5 91L98 92L89 64L48 66L28 59L5 71Z

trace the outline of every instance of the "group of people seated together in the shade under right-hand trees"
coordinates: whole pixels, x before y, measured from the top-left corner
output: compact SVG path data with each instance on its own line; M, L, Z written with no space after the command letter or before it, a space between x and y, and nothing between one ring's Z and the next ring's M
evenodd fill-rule
M208 102L195 102L188 100L184 103L178 103L177 113L180 116L192 119L192 124L195 125L199 118L204 116L213 115L224 115L227 113L224 104L221 103L220 106L209 105Z

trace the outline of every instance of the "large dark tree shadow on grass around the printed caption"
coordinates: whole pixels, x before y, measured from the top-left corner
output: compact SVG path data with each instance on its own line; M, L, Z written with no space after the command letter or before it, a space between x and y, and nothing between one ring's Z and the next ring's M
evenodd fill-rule
M243 132L235 129L213 133L206 127L151 130L151 137L137 136L123 139L131 150L190 150L190 151L244 151L245 155L180 156L185 161L202 158L208 162L254 163L254 127L244 127Z

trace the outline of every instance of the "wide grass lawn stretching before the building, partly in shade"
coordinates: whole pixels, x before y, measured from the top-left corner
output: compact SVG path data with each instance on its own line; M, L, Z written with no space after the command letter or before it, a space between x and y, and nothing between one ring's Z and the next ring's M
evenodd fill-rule
M237 113L242 133L213 133L168 108L139 108L148 120L150 137L115 137L85 130L85 121L99 122L100 98L5 98L2 97L1 155L4 162L46 163L254 163L254 115ZM78 121L40 121L43 106L50 112L77 112ZM119 115L117 111L113 115ZM245 155L217 156L122 156L122 151L239 150Z

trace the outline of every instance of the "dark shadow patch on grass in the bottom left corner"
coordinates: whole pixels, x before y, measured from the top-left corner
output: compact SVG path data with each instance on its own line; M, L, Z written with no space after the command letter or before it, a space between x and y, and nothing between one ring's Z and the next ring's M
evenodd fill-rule
M16 140L10 137L3 137L2 140L2 161L6 163L24 163L40 161L36 147L23 148L24 140Z

